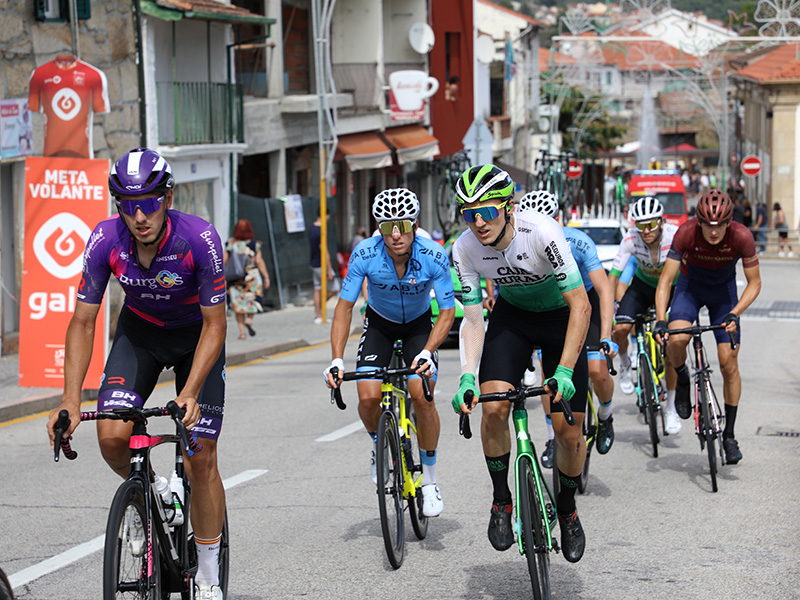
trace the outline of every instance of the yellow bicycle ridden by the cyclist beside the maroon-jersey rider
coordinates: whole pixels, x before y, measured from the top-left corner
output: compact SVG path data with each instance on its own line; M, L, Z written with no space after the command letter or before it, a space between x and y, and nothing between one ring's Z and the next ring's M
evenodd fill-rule
M668 435L664 425L664 411L661 403L666 398L666 390L662 384L664 377L664 356L661 346L653 337L653 323L656 319L654 309L636 315L634 329L636 331L636 403L644 414L644 421L650 430L650 443L653 446L653 457L658 458L657 419L661 418L661 432Z

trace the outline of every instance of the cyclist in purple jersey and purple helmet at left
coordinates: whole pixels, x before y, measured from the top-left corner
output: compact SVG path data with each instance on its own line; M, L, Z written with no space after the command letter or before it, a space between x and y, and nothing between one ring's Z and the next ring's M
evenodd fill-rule
M219 549L225 490L217 469L217 439L225 408L225 273L223 246L214 226L171 210L175 179L154 150L136 148L112 167L109 189L118 215L101 221L84 252L75 312L67 328L64 394L47 429L62 409L70 415L69 437L80 423L81 387L92 357L95 322L113 274L125 292L98 410L143 406L161 371L175 372L175 401L184 424L203 438L203 450L184 454L192 483L191 523L197 548L195 598L221 600ZM98 421L100 450L120 476L130 469L132 424ZM143 524L128 524L131 551L143 552ZM138 543L137 543L138 540Z

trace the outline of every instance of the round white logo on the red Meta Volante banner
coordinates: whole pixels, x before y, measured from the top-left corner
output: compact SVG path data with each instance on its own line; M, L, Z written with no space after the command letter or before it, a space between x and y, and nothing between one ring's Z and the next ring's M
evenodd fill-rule
M92 230L72 213L50 217L33 238L33 253L53 277L72 279L83 268L84 241Z

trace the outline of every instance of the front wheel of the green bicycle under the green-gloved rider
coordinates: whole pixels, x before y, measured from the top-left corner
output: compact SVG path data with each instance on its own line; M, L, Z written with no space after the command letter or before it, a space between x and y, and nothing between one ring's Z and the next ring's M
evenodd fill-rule
M519 512L522 520L522 545L528 561L534 600L550 598L550 552L547 547L546 517L536 489L533 465L528 458L519 461Z

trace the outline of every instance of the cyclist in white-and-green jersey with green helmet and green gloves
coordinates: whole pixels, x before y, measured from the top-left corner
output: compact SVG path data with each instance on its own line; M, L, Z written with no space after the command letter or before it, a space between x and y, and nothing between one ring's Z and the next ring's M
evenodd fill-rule
M534 348L542 349L543 379L558 383L550 408L561 481L556 499L561 548L568 561L577 562L586 545L575 491L586 457L581 426L589 384L585 341L591 305L563 228L535 212L513 213L513 195L511 177L494 165L471 167L456 182L456 199L469 229L453 248L464 320L459 332L461 380L452 405L456 413L471 414L479 394L515 388ZM485 332L481 275L500 287ZM478 372L480 391L475 385ZM469 406L467 390L475 394ZM561 401L570 402L572 426ZM482 406L481 442L493 487L488 537L496 550L507 550L514 543L508 486L511 406Z

